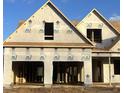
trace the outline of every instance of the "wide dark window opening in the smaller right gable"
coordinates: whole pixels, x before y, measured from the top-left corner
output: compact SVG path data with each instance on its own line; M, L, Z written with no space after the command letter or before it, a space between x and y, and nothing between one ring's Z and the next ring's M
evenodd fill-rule
M101 43L102 29L87 29L87 38L89 38L92 42Z

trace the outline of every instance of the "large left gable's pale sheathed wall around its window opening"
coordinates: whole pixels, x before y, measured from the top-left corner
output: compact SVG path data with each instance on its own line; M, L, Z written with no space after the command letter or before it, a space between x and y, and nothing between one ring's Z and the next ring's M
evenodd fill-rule
M44 39L45 22L54 24L54 40ZM26 32L27 29L30 31ZM92 43L80 34L51 1L27 19L5 42L87 43L92 46Z

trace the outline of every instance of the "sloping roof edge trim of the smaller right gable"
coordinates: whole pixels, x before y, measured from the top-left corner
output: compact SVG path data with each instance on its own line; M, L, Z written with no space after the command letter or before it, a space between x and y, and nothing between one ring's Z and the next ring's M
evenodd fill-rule
M117 36L120 35L120 33L115 29L115 27L114 27L107 19L105 19L105 17L102 16L102 15L98 12L97 9L94 8L88 15L90 15L91 13L94 13L97 17L99 17L99 19L101 19L102 22L104 22L110 29L112 29L112 31L113 31ZM76 26L80 25L80 24L83 22L83 20L84 20L88 15L86 15L86 16L82 19L82 21L80 21Z

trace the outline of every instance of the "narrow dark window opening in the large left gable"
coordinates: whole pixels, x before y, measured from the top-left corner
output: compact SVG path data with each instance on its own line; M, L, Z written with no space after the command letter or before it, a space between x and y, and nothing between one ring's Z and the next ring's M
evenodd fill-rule
M53 23L45 23L45 40L53 40L54 39L54 24Z

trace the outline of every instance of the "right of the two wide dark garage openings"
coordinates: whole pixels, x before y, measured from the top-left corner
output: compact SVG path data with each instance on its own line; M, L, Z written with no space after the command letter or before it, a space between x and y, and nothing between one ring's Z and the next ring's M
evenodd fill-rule
M83 84L83 62L53 62L54 84Z

